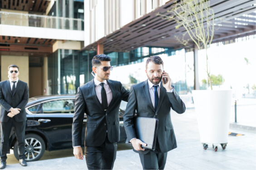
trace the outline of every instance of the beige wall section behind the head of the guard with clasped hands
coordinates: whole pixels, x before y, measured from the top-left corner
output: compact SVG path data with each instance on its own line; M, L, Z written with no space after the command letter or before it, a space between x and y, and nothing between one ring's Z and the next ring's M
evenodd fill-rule
M19 67L19 80L29 84L29 57L28 56L1 56L1 81L8 80L8 66L15 64Z

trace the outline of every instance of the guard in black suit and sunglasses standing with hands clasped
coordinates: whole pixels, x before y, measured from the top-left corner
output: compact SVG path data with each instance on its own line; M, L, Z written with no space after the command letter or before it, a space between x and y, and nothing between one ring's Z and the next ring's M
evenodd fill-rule
M19 147L20 165L26 166L25 162L25 106L29 100L28 84L19 80L19 67L10 65L8 67L9 80L0 82L0 169L4 169L7 159L7 148L12 125L15 127L15 134Z

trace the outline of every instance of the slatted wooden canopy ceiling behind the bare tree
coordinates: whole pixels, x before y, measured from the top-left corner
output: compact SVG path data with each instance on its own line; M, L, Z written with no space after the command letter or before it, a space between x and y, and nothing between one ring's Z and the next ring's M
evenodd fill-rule
M240 23L246 23L248 25L235 24L235 22L239 22L235 18L241 18L243 14L255 16L255 6L253 4L255 4L254 0L211 0L210 5L214 9L215 18L222 18L215 21L216 30L214 39L231 38L238 36L238 34L240 36L241 33L246 33L246 35L247 33L255 33L255 18L250 18L254 22L240 21ZM169 1L155 11L144 15L143 18L125 25L107 37L101 38L98 42L90 44L85 49L97 48L97 43L103 43L104 48L108 49L107 52L118 51L120 49L122 51L130 51L142 44L145 46L154 44L157 47L164 44L165 46L163 47L181 47L181 44L175 40L174 35L185 33L186 29L182 27L175 29L177 25L175 21L162 20L156 16L158 12L167 15L167 10L171 8L171 5L172 1ZM245 17L243 16L242 18L244 19ZM142 27L143 24L146 26ZM218 24L221 24L221 26ZM113 41L109 41L110 39L113 39ZM120 39L122 41L118 42L118 44L113 43ZM214 39L213 42L215 41ZM175 41L177 43L173 43Z

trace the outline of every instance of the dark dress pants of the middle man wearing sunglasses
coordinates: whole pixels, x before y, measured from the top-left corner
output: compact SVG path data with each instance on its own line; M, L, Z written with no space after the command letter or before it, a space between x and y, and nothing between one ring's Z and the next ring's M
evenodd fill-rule
M85 146L88 170L112 170L117 154L117 143L110 143L108 136L101 146Z

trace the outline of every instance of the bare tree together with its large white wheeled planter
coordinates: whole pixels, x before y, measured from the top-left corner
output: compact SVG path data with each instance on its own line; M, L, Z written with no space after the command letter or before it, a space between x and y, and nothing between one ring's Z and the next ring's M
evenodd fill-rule
M163 16L176 22L176 29L183 29L175 37L183 46L194 42L198 50L205 49L207 81L211 90L192 90L193 101L197 113L200 141L204 149L211 143L217 151L217 145L226 148L231 108L231 90L212 90L207 49L214 36L214 11L210 0L180 0L174 2L168 10L170 16Z

